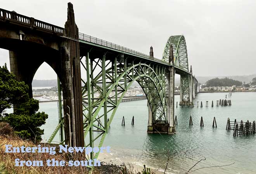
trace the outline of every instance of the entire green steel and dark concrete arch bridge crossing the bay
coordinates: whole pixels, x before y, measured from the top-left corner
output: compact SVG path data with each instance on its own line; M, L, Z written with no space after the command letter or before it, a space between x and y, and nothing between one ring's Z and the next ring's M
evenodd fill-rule
M174 77L180 74L180 104L192 104L197 79L188 64L182 35L171 36L163 57L154 57L78 32L72 3L61 28L14 11L0 9L0 48L9 50L10 71L29 86L43 62L58 76L59 124L48 140L60 133L69 146L102 146L126 91L135 81L147 97L148 133L175 133ZM47 71L47 70L45 70ZM86 71L86 77L81 77ZM59 101L61 96L59 95ZM91 153L97 158L99 153Z

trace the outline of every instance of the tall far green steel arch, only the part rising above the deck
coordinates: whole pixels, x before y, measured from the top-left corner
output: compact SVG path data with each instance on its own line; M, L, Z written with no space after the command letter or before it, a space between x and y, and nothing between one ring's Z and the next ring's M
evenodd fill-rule
M170 36L164 47L164 53L162 60L169 62L170 57L170 45L173 47L174 64L185 71L189 71L189 63L187 56L187 45L185 37L183 35Z

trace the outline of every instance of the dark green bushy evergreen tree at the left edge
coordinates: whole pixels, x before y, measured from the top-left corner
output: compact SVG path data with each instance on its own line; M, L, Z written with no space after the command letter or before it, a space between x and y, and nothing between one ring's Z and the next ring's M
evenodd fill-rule
M6 109L14 106L12 114L5 113ZM29 98L28 85L15 79L6 64L0 67L0 121L8 122L22 138L40 141L48 115L37 112L39 102Z

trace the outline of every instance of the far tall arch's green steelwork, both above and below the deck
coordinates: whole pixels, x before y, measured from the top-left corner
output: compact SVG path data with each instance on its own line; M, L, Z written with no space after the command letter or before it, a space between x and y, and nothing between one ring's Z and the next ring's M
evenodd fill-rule
M189 62L187 56L187 46L183 35L170 36L165 47L162 60L169 62L170 45L173 47L174 62L171 64L180 67L185 71L189 71ZM180 75L180 95L182 101L189 101L189 76L188 74ZM192 101L190 101L192 102Z

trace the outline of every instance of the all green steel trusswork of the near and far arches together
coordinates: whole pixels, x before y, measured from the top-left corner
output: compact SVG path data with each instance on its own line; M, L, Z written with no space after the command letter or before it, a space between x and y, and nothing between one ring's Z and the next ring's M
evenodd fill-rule
M92 39L93 37L90 38ZM102 45L102 43L97 44ZM114 44L111 43L111 45ZM170 45L173 47L174 65L170 61ZM100 47L99 50L97 45L90 47L92 48L91 50L97 49L92 52L90 52L90 49L86 49L89 51L83 52L83 56L80 57L81 71L86 72L86 77L81 77L86 147L102 147L116 110L126 91L135 81L142 87L149 103L149 112L152 113L149 114L152 115L152 120L149 116L148 125L150 125L150 122L151 125L157 123L171 125L170 123L173 122L168 115L170 114L168 110L168 105L170 105L168 101L170 100L170 81L168 81L168 78L170 78L171 66L177 68L181 76L181 102L190 100L192 74L189 73L184 36L171 36L165 46L163 59L158 59L156 62L141 58L134 59L133 56L126 52L115 52L114 54L111 51L103 52L104 47ZM124 49L119 48L118 46L117 50ZM128 48L125 49L126 51L128 50ZM128 53L130 53L129 50ZM137 55L139 53L132 52L132 54ZM138 56L152 60L156 59L144 55ZM56 127L49 139L50 141L59 131L61 124L63 124L63 120ZM61 140L61 142L63 143L64 141ZM91 153L90 158L97 158L98 155L99 153Z

